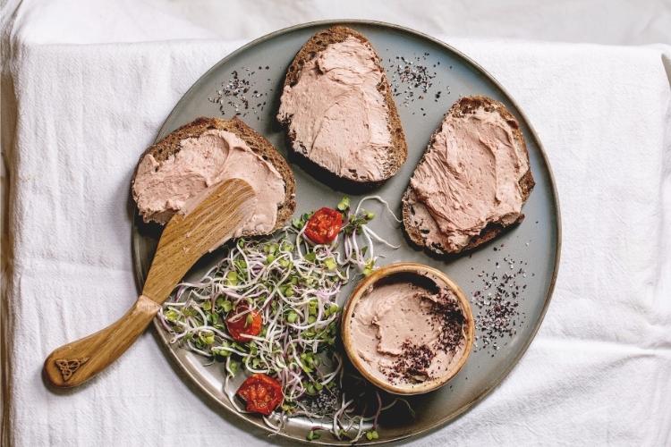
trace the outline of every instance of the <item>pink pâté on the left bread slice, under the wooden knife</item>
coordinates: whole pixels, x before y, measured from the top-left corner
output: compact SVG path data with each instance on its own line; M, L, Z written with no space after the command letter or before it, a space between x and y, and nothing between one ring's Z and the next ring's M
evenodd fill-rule
M235 236L272 231L277 208L285 200L285 181L273 164L230 131L210 129L179 144L180 150L163 162L150 153L140 160L132 195L146 222L166 223L191 198L220 181L238 178L250 184L257 203Z

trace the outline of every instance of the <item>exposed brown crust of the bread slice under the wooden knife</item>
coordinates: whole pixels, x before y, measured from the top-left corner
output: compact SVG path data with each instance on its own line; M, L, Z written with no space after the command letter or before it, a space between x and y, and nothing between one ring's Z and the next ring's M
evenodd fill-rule
M281 228L293 215L293 211L296 207L295 201L295 181L293 179L293 171L289 164L286 163L285 157L282 156L275 147L268 141L268 139L263 138L257 131L251 129L250 126L242 122L242 120L237 117L231 120L220 120L218 118L206 118L200 117L183 125L179 129L172 131L164 139L161 139L156 144L150 146L143 154L140 156L140 160L151 154L154 156L156 161L161 164L165 162L169 157L174 156L181 150L181 141L188 138L199 137L205 131L218 129L221 131L229 131L237 135L242 139L251 150L261 156L265 161L275 166L276 170L282 176L282 179L285 182L285 201L280 204L277 208L277 218L276 224L273 228L275 231L278 228ZM138 163L138 166L140 163ZM132 186L135 183L135 176L138 173L138 167L135 168L135 173L133 173L131 181L131 195L132 195ZM147 220L147 219L146 219ZM150 219L151 221L165 224L167 223L168 218L158 218ZM257 236L259 234L252 233L243 233L245 236Z

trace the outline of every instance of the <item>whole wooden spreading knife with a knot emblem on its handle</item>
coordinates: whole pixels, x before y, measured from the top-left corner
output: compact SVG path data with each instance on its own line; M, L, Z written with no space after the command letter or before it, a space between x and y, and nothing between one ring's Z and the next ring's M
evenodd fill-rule
M114 324L49 354L44 364L47 381L57 387L77 386L119 358L144 332L191 266L230 239L251 217L255 203L250 185L234 179L193 204L190 213L174 215L158 241L140 298Z

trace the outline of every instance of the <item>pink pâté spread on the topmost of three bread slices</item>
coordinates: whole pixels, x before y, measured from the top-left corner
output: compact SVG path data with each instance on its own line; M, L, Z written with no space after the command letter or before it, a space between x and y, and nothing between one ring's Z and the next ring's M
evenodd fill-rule
M345 179L382 181L393 175L400 164L390 156L392 118L380 88L387 84L385 76L373 47L355 35L306 61L295 83L285 85L277 114L288 124L293 149Z

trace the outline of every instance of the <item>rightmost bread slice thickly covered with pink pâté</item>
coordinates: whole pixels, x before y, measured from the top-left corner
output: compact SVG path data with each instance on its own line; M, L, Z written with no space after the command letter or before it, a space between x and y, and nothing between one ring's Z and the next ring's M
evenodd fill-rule
M418 229L429 249L458 253L479 245L476 238L489 225L497 226L493 237L520 222L532 187L529 156L513 115L492 99L463 97L412 174L403 198L406 229L408 223Z

